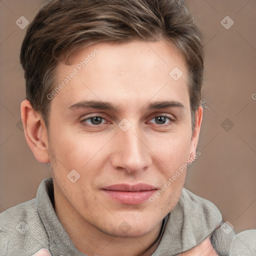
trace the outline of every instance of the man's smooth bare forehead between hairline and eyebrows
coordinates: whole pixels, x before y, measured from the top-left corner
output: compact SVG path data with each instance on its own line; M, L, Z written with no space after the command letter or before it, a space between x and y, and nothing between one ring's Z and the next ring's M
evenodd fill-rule
M58 104L89 98L132 105L188 96L184 58L164 40L97 43L76 50L70 62L56 69L55 86L63 85L54 96Z

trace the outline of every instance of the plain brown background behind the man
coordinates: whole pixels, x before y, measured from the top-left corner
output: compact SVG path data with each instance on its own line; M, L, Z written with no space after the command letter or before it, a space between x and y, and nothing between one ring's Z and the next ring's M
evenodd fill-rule
M35 197L50 176L19 126L25 97L19 50L26 28L15 24L20 16L30 22L46 2L0 1L0 212ZM185 4L203 32L207 55L201 156L189 167L185 187L215 203L236 231L256 228L256 0ZM229 29L220 23L227 15L234 21Z

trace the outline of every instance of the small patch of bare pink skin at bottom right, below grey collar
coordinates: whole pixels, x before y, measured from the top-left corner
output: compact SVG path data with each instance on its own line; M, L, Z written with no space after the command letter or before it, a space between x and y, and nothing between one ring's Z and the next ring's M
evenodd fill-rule
M210 236L190 250L182 252L177 256L218 256L210 242Z

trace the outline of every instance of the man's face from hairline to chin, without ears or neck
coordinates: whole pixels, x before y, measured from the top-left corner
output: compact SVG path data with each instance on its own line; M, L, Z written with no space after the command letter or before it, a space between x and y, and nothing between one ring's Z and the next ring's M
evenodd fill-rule
M56 73L47 135L55 201L107 234L149 232L176 205L185 170L172 176L197 143L181 54L163 40L94 44Z

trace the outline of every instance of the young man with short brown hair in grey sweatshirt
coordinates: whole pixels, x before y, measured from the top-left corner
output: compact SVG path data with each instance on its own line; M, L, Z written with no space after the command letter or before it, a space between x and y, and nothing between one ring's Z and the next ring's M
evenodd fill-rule
M52 179L0 214L0 255L255 254L255 230L223 232L183 188L200 154L203 47L178 1L52 0L20 60L25 138Z

